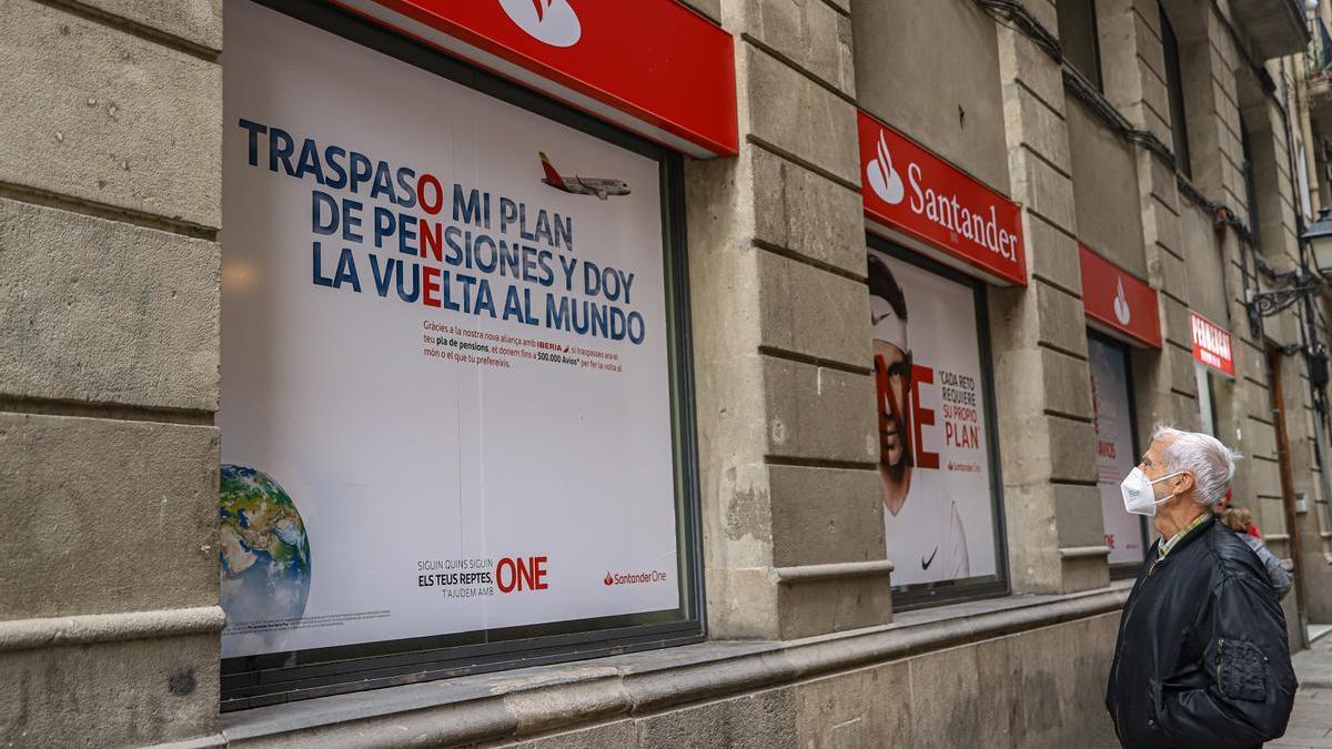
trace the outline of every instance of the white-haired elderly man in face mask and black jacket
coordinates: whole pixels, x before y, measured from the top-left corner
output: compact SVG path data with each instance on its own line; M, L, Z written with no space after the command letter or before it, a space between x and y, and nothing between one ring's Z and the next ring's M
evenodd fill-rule
M1124 508L1160 533L1124 605L1106 692L1126 748L1244 749L1285 732L1296 688L1285 616L1263 564L1209 512L1236 457L1159 426L1120 486Z

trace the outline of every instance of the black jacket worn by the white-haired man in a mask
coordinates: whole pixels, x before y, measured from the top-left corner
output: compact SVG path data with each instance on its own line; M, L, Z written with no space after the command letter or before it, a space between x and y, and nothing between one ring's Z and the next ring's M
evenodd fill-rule
M1128 749L1243 749L1285 732L1295 670L1285 616L1244 540L1208 517L1147 552L1110 669L1106 708Z

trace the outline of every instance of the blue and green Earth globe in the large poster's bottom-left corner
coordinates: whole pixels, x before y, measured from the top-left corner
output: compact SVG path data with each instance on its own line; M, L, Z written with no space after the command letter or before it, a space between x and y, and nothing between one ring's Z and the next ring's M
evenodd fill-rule
M272 476L222 465L221 602L228 629L298 620L310 594L310 542L296 502Z

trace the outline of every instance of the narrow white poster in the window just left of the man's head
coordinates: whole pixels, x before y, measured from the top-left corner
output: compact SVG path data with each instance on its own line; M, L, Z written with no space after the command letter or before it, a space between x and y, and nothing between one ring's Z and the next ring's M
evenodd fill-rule
M1124 510L1119 492L1128 472L1138 465L1134 450L1132 402L1128 397L1128 357L1119 347L1087 340L1091 360L1091 397L1096 418L1096 486L1106 522L1110 564L1143 561L1142 517Z

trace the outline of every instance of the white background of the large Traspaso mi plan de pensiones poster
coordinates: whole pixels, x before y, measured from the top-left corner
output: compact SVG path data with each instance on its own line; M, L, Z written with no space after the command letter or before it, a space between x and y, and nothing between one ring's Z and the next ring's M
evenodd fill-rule
M264 470L292 496L310 544L304 616L337 624L260 636L232 621L222 654L677 608L658 163L250 3L228 1L225 24L222 462ZM313 137L321 151L433 173L446 192L434 219L446 225L453 183L523 203L529 231L539 209L571 216L573 251L558 252L635 273L626 309L642 313L645 341L408 304L394 291L381 299L366 252L413 259L374 249L372 205L425 212L362 189L362 244L314 236L320 185L270 172L264 137L250 167L240 119L289 132L297 153ZM555 191L539 181L538 151L562 175L619 179L633 192L602 201ZM312 283L313 240L324 240L325 275L353 248L362 293ZM502 311L506 284L493 280ZM515 285L542 300L563 292ZM428 359L426 321L613 352L623 371ZM530 556L547 557L545 590L448 598L418 585L426 560ZM647 572L665 574L605 581ZM338 620L357 612L388 616Z

